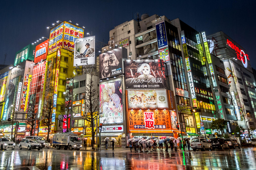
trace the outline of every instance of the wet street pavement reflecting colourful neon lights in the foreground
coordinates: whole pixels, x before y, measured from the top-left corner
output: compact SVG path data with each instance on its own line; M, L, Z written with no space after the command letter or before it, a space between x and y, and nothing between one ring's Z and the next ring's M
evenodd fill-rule
M14 170L58 170L58 169L171 169L171 170L215 170L253 169L256 170L256 148L248 147L214 151L179 151L135 153L129 149L95 151L1 150L0 169Z

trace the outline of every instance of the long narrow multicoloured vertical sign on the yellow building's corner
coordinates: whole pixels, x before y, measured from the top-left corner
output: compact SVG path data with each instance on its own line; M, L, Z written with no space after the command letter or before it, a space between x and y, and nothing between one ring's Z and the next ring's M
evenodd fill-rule
M60 71L60 54L61 51L57 51L57 59L56 59L56 71L55 71L55 79L54 79L54 94L53 94L53 109L52 109L52 126L51 130L54 130L55 127L55 117L56 117L56 107L57 107L57 94L58 94L58 85L59 85L59 71Z

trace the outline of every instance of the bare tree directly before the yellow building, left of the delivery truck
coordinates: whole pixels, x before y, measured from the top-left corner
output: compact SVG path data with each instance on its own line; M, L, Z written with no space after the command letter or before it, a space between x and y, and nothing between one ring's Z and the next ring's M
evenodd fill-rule
M51 126L52 126L52 124L55 123L55 122L52 122L52 119L55 118L55 115L52 114L53 108L54 108L54 105L53 105L53 96L54 96L53 89L54 88L53 88L52 83L49 86L50 86L49 87L49 93L47 93L47 96L45 96L43 113L42 113L42 117L46 118L46 120L43 121L43 125L47 126L47 128L48 128L47 139L46 139L48 142L49 142L49 134L50 134L50 131L51 131Z

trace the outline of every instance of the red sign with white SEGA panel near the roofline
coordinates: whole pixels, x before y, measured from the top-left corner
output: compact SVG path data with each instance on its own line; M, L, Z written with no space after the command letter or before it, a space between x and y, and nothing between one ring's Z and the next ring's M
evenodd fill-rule
M36 46L34 63L38 63L41 60L45 60L48 54L49 40L46 40Z

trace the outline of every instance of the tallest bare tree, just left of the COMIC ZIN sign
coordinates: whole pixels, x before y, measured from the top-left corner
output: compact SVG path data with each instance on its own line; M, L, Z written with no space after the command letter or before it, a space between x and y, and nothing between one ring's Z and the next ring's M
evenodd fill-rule
M90 123L92 130L92 149L94 149L94 136L96 128L94 130L95 121L99 119L101 114L99 113L99 92L97 90L97 84L94 85L93 72L90 73L90 78L85 88L85 109L87 110L87 115L84 116L84 120Z

